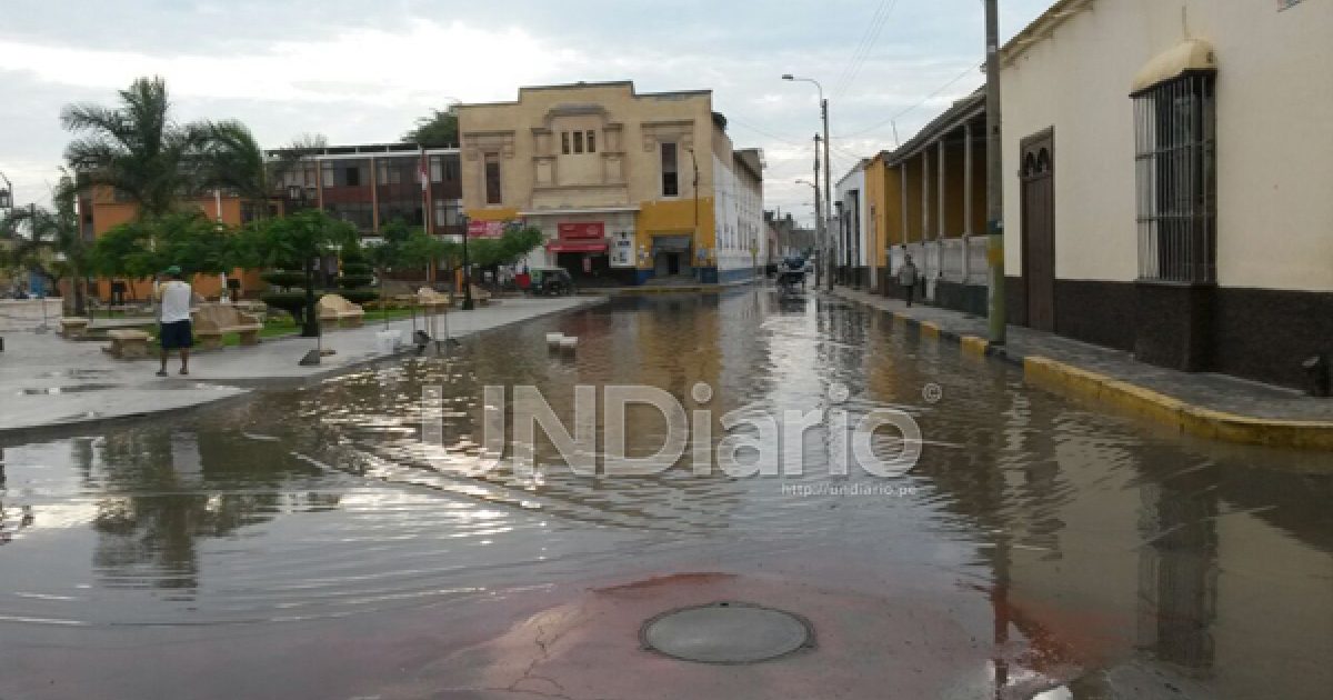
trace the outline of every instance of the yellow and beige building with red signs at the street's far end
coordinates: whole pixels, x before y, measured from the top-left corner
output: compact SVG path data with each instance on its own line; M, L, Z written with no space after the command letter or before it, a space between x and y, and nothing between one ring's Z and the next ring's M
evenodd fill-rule
M532 267L581 284L714 284L752 279L765 256L762 155L732 148L710 91L520 88L460 105L459 133L464 211L541 228Z

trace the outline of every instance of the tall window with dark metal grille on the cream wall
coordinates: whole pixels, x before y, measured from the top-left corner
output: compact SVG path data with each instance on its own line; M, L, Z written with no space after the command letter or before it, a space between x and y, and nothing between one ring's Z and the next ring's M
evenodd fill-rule
M1138 277L1217 281L1216 75L1136 92Z

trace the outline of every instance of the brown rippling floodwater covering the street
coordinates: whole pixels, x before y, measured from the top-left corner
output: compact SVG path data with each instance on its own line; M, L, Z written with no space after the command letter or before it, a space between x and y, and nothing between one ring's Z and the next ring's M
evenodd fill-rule
M548 332L577 353L548 352ZM698 383L714 416L828 407L841 384L852 416L909 412L924 453L897 479L829 476L842 437L821 425L801 475L580 476L545 443L531 477L483 469L484 385L537 387L569 419L577 384L693 409ZM433 385L440 447L420 440ZM660 417L631 425L631 452L663 444ZM826 637L790 663L856 676L925 645L930 696L1324 697L1326 459L1161 435L814 295L619 300L445 357L7 444L0 699L480 697L479 668L503 665L487 645L523 620L681 575L809 616ZM674 664L655 668L690 672Z

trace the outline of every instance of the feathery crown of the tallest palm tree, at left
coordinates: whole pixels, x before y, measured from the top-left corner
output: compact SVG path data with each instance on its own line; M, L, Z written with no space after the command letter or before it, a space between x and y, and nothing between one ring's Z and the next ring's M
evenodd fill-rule
M160 77L135 80L120 91L117 107L65 105L60 121L80 135L65 147L65 159L91 184L129 197L140 217L169 212L199 183L208 124L172 121L167 83Z

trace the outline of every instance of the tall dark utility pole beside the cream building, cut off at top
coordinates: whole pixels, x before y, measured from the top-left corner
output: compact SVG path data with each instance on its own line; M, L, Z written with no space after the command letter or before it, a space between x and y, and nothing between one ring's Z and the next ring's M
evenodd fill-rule
M1000 113L1000 11L986 1L986 261L990 267L989 340L1005 344L1004 292L1004 135Z

